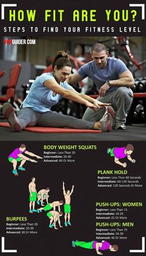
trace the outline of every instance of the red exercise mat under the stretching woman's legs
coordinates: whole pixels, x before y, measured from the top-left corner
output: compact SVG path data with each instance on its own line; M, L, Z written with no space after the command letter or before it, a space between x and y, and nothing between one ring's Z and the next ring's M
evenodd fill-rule
M0 123L1 127L10 128L9 123ZM85 130L72 128L55 128L55 127L26 127L25 131L33 131L33 133L101 133L99 130Z

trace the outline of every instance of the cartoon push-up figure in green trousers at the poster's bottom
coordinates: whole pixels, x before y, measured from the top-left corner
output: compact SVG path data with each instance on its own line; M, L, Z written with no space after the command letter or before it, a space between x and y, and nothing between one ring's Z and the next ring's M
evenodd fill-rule
M99 250L111 250L111 252L116 252L118 250L118 245L111 245L107 241L97 242L82 242L82 241L72 241L72 247L79 246L85 249L95 249L97 254L103 255Z

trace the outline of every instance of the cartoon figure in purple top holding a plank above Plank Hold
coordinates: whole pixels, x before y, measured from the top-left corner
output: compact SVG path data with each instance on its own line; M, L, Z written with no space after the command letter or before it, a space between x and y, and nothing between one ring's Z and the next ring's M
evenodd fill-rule
M127 157L127 159L133 163L135 163L135 159L131 158L131 154L134 151L134 146L132 144L127 144L126 147L123 148L108 148L107 153L110 154L111 157L114 157L114 162L119 164L122 167L126 167L127 163L120 162L119 159L123 159Z

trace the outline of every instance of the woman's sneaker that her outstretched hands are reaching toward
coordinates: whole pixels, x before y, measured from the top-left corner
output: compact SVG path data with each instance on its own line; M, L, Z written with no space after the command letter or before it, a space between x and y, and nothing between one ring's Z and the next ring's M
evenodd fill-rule
M101 131L111 131L114 125L114 110L111 106L106 107L105 114L100 119Z

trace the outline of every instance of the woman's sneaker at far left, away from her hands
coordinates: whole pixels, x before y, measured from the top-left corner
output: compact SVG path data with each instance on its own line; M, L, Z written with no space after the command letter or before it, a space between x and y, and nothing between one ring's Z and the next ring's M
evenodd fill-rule
M2 107L2 114L4 115L4 118L7 119L9 125L14 131L22 130L22 126L20 125L19 120L15 115L15 110L12 105L9 104L9 102L4 103Z

